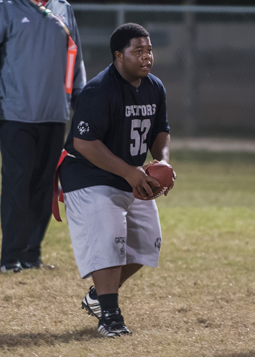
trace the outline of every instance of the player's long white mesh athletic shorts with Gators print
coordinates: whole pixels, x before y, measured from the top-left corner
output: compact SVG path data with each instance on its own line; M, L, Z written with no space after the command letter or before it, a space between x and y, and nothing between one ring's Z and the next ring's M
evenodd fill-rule
M154 200L132 192L92 186L64 194L74 256L82 278L91 272L138 263L157 267L161 246Z

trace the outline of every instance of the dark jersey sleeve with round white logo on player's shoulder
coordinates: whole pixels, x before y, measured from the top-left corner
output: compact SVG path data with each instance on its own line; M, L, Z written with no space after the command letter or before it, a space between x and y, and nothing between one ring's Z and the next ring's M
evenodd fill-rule
M74 137L104 141L109 126L110 105L107 96L96 89L84 89L78 96L73 117Z

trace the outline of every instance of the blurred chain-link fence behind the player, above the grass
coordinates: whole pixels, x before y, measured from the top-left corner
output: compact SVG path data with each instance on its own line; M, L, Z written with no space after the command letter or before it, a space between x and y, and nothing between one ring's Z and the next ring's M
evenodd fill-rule
M72 7L88 80L112 61L112 31L137 22L150 32L172 134L254 137L255 6Z

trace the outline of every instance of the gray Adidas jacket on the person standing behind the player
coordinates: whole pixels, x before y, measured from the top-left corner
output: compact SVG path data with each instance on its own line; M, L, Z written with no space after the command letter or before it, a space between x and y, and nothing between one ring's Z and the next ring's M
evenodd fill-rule
M45 5L65 22L77 45L72 95L65 93L67 35L30 0L0 0L0 120L66 122L86 84L74 13L65 0Z

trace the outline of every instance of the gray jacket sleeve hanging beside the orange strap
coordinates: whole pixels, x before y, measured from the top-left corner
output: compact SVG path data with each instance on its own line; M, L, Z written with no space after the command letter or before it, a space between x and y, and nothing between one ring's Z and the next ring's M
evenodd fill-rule
M72 84L72 98L71 98L71 107L74 109L76 97L80 93L81 89L86 85L87 79L86 79L85 66L82 59L80 35L74 17L74 12L72 11L71 7L70 7L70 16L72 18L72 33L70 35L77 46L77 55L76 55L75 66L74 66L74 81Z

